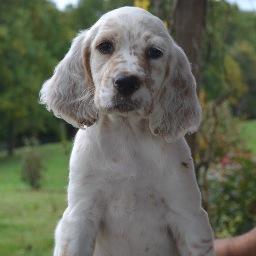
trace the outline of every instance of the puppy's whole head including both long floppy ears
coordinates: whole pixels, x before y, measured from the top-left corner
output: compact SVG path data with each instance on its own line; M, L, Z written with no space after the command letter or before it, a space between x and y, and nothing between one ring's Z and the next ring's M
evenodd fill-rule
M81 32L41 90L41 102L80 127L101 112L137 113L167 139L200 121L196 85L184 52L161 20L135 7L111 11Z

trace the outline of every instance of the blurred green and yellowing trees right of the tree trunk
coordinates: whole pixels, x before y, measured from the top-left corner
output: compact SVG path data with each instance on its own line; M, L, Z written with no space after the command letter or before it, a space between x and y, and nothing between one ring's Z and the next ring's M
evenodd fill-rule
M248 102L249 98L256 100L256 94L252 94L256 84L255 29L254 13L241 12L225 1L208 1L202 87L209 99L226 97L236 115L246 113L250 118L256 117Z

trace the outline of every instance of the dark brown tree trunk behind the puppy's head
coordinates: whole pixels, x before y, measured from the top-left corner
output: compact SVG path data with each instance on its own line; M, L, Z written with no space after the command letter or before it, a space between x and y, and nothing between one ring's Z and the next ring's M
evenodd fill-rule
M174 18L171 26L176 42L183 48L192 66L199 91L201 79L202 40L206 20L207 0L174 1ZM187 136L192 156L196 152L196 135Z

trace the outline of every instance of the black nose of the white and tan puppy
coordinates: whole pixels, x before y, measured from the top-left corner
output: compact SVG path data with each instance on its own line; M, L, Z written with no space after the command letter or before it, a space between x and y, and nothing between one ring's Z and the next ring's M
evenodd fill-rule
M119 76L114 81L114 87L123 96L133 94L140 87L140 79L137 76Z

